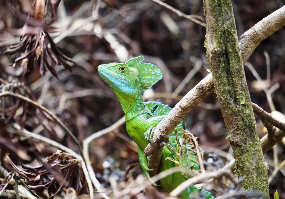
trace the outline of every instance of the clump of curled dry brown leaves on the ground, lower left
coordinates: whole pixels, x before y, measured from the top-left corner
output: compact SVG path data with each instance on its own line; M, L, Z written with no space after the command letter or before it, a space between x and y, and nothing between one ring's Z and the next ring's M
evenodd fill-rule
M39 166L21 164L26 171L19 169L8 155L5 159L12 171L31 182L32 185L29 185L29 188L38 193L47 189L49 196L53 197L71 187L77 195L88 194L86 180L81 175L80 162L69 154L57 151Z

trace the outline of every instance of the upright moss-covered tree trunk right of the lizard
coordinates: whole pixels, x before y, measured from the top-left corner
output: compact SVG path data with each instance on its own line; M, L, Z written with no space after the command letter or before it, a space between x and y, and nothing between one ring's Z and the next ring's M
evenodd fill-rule
M237 40L232 5L229 0L204 0L207 56L214 85L233 148L242 187L269 198L267 167L260 141Z

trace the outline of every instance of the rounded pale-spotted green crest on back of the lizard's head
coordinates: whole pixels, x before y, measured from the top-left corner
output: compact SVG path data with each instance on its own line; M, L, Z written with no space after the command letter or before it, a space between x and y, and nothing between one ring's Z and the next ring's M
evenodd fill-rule
M126 65L138 70L138 78L141 86L141 92L152 87L156 82L161 80L162 72L151 63L144 63L143 56L134 57L126 61Z

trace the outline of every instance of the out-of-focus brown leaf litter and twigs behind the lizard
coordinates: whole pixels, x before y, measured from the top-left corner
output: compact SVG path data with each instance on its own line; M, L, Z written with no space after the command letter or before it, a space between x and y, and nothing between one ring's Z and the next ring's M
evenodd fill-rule
M205 20L203 1L163 2L170 5L173 11L153 1L143 0L62 0L57 11L56 7L46 3L43 19L41 16L32 17L43 20L44 25L40 26L43 31L39 32L31 28L37 27L36 22L27 19L32 1L0 1L0 89L6 87L44 105L82 142L124 116L117 97L100 78L97 66L125 62L131 57L143 55L145 62L156 65L164 75L162 80L143 93L144 99L174 107L208 74L209 63L204 47ZM240 37L262 18L284 6L285 1L234 0L232 4ZM199 24L178 16L177 11L195 15ZM20 36L24 46L9 48L20 42ZM37 48L34 40L45 43L50 52L41 57L38 51L43 49ZM27 55L32 47L36 48L35 52ZM58 66L54 64L54 56ZM77 66L65 56L75 61ZM274 109L285 113L284 63L285 28L282 28L257 46L244 67L251 100L269 113ZM0 100L3 121L17 123L78 152L73 140L42 111L16 98ZM5 109L2 108L4 105ZM261 138L266 129L260 119L256 119ZM220 169L233 158L215 93L207 96L188 114L186 123L205 151L206 169ZM5 136L1 136L3 140ZM45 161L57 150L38 140L21 140L18 134L6 133L6 138L27 155L23 160L16 149L9 148L9 157L16 165L19 162L37 165L39 159ZM277 190L281 198L285 198L284 163L277 172L273 170L284 162L284 144L285 141L280 142L274 151L265 154L271 176L270 195L273 196ZM125 170L138 163L137 146L129 138L125 124L91 142L89 153L96 177L104 187L111 185L110 176L117 183L126 181ZM136 179L141 172L138 164L129 173L128 182Z

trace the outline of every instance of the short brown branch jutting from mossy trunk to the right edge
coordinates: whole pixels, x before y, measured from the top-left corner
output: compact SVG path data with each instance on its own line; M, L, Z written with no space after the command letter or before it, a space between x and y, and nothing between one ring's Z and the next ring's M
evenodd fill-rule
M272 117L272 115L270 115L270 113L267 113L266 111L264 111L257 104L251 103L251 105L252 105L254 113L258 117L262 118L263 120L270 122L273 126L279 128L280 130L285 131L285 123L284 122L281 122L278 119Z

